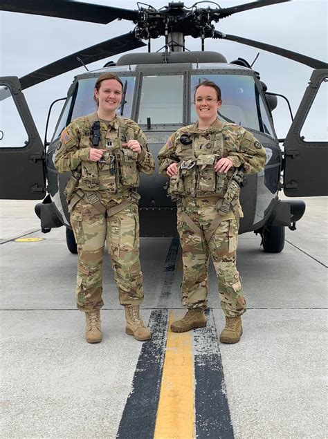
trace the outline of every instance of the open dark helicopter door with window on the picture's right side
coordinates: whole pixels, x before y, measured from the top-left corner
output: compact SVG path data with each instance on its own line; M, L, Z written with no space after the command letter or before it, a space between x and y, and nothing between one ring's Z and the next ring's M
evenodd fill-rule
M284 141L284 194L328 195L328 69L313 71Z

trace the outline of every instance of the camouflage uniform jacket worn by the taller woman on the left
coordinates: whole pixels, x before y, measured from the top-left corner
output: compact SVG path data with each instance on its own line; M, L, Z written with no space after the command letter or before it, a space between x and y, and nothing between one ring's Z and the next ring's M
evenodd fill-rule
M98 116L93 115L96 120ZM99 191L110 194L111 198L129 196L131 189L138 187L139 172L151 175L155 163L147 146L147 139L136 122L127 118L116 117L111 122L100 119L100 142L97 148L106 149L104 163L91 162L89 151L93 146L91 124L88 116L82 116L71 122L60 138L55 153L55 167L62 173L81 168L81 178L77 188L84 191ZM122 130L120 123L124 123ZM122 131L125 131L125 136ZM134 153L121 144L127 140L138 140L140 153ZM115 157L113 162L111 160Z

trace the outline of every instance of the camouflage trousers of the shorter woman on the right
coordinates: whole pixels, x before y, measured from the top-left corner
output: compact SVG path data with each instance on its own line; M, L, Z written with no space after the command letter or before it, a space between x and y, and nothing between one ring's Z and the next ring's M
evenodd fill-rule
M185 213L203 231L217 215L215 199L188 198ZM183 281L181 295L183 306L206 308L208 296L209 256L217 273L221 308L228 317L242 315L246 301L236 268L238 224L233 212L229 212L212 234L210 242L195 234L178 212L178 232L182 247Z

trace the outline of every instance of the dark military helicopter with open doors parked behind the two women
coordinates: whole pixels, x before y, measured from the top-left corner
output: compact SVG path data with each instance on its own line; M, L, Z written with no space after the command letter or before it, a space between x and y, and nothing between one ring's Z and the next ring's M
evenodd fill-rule
M239 233L259 233L264 251L281 252L284 247L285 227L295 230L295 223L304 214L305 204L301 200L280 200L280 190L283 189L284 194L290 197L322 196L328 193L325 180L328 144L311 142L302 136L302 127L311 104L320 85L328 80L328 64L261 41L219 32L212 22L217 23L220 19L238 12L284 1L289 0L259 0L230 8L220 8L216 3L217 8L199 7L199 3L203 2L187 8L182 2L170 2L160 9L138 3L138 10L129 10L69 0L51 3L39 0L30 0L28 3L24 0L0 0L0 10L99 24L125 19L136 25L132 32L79 50L20 79L0 78L0 100L11 95L28 136L25 144L0 148L0 170L3 178L0 198L44 198L42 203L35 206L35 212L41 220L42 232L50 232L51 228L64 225L69 250L76 252L63 194L70 175L57 174L53 156L62 129L74 118L95 111L95 79L104 72L115 72L119 75L124 88L118 112L140 124L147 136L149 148L156 157L172 132L196 120L192 106L193 88L206 78L219 84L224 95L219 118L242 124L266 149L265 170L244 178L241 194L244 218ZM200 51L188 51L185 46L187 36L200 39ZM165 37L163 51L152 53L152 39L158 37ZM277 106L277 95L267 91L259 73L245 59L227 62L226 57L220 53L206 52L206 38L237 41L293 59L314 69L298 112L284 139L284 153L280 149L272 118L272 112ZM74 78L52 140L42 144L21 90L81 64L86 66L100 59L146 46L143 40L147 41L147 53L127 53L116 64L108 62L103 68L87 71ZM315 174L307 171L313 168L316 169ZM163 189L165 181L165 178L157 174L141 178L141 236L176 235L176 209Z

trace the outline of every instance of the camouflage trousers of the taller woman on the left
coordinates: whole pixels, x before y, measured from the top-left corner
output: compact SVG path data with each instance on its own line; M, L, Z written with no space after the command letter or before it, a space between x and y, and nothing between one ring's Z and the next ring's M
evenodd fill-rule
M123 199L124 200L124 199ZM101 200L109 209L113 200ZM107 242L120 304L138 306L143 301L143 274L139 259L138 205L105 218L93 205L80 200L71 212L71 225L78 244L76 301L82 311L102 308L102 256Z

